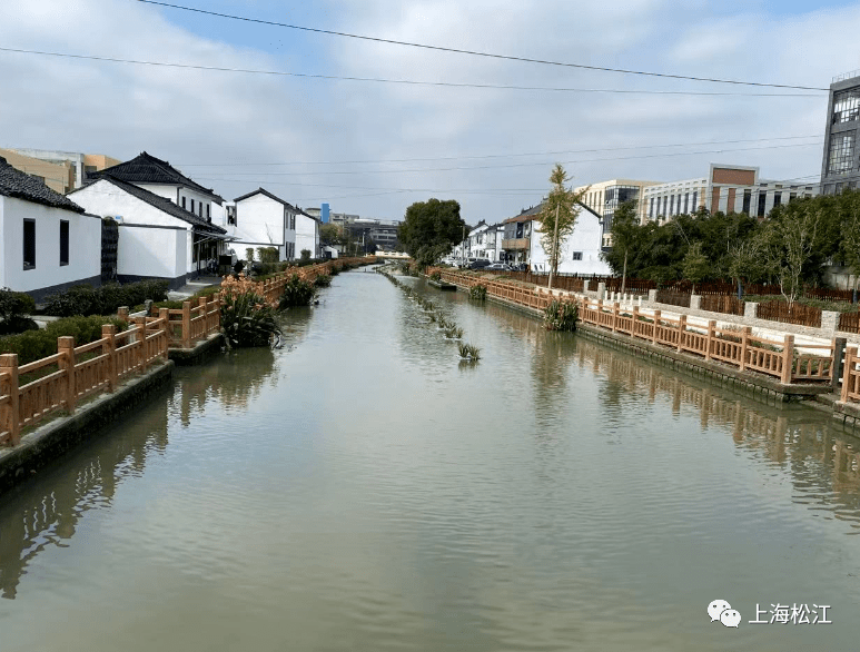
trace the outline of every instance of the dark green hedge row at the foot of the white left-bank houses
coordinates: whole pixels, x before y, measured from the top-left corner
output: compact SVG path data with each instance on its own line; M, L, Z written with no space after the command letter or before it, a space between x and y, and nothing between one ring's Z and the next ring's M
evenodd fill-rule
M140 280L127 285L102 285L98 288L78 285L49 296L46 299L45 314L57 317L110 315L120 306L137 306L147 299L162 302L167 299L167 288L166 280Z

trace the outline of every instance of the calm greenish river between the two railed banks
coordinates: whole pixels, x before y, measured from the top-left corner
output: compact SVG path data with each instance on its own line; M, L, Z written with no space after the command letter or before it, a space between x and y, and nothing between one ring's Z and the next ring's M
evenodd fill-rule
M404 281L480 362L342 274L284 348L177 369L3 496L0 650L856 648L860 442L829 415ZM770 623L795 604L831 622Z

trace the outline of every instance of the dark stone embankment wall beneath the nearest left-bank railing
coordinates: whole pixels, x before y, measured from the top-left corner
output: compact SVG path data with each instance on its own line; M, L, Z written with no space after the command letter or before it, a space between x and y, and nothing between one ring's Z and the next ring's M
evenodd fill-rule
M117 417L161 392L172 381L175 363L166 360L146 374L80 405L75 414L55 418L21 437L13 448L0 450L0 494L27 482L40 468L100 436Z

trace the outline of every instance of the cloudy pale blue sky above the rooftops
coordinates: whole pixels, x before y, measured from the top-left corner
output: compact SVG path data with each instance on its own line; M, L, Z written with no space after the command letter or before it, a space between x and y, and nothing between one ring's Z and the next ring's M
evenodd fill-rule
M860 2L175 3L664 75L826 89L833 76L860 69ZM383 219L401 219L413 201L454 198L474 224L540 201L556 161L574 185L685 179L704 176L711 162L759 166L768 179L814 179L821 168L821 90L476 57L140 0L0 0L0 146L123 160L146 150L226 198L263 186L303 207L328 201Z

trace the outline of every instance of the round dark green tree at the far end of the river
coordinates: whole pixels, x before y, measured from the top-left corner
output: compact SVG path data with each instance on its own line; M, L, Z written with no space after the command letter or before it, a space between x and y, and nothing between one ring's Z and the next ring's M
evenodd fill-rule
M461 240L465 223L454 199L416 201L406 209L397 239L418 265L433 265Z

